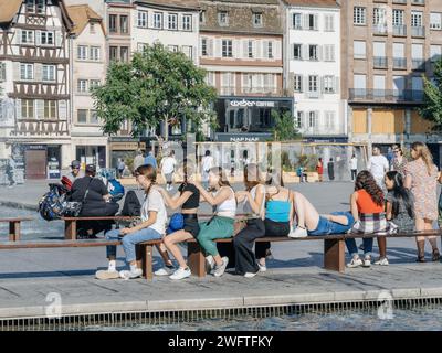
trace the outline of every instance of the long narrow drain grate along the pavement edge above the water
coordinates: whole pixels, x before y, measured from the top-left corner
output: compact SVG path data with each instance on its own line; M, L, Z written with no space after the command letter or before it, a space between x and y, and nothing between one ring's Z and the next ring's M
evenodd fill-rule
M392 309L433 308L442 304L442 298L418 298L391 300ZM129 328L136 324L171 325L198 322L207 319L232 320L241 317L265 319L282 315L329 313L345 314L350 311L376 313L380 306L378 300L347 301L328 303L298 303L266 307L244 307L223 309L198 309L182 311L150 311L150 312L114 312L99 314L64 315L60 319L22 318L0 319L0 331L77 331L97 327Z

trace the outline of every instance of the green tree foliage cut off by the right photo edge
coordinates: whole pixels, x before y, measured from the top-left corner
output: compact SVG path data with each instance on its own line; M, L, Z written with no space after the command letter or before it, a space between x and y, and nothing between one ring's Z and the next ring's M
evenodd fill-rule
M442 60L434 66L434 79L423 77L423 106L420 115L434 122L433 131L442 131Z

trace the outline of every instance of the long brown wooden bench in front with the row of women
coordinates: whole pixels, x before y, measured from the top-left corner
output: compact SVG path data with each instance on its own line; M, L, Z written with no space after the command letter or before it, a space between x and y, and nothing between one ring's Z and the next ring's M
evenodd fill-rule
M394 235L375 235L375 234L343 234L328 236L308 236L304 238L290 237L263 237L256 239L257 243L270 242L309 242L324 240L324 268L327 270L345 271L345 240L355 238L400 238L415 236L441 236L442 231L399 233ZM217 239L217 243L231 243L233 238ZM147 280L152 279L154 246L159 245L161 240L150 240L137 245L137 259L141 261L144 277ZM198 277L206 276L206 258L200 245L196 239L186 242L188 244L188 265L192 275ZM29 249L29 248L62 248L62 247L97 247L106 245L120 245L119 240L91 239L91 240L39 240L39 242L3 242L0 243L0 249Z

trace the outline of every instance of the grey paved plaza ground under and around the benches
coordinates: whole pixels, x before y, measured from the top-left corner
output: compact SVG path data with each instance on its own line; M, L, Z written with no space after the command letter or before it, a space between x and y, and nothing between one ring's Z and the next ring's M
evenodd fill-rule
M312 183L290 188L305 194L319 212L326 213L348 210L354 186L351 183ZM35 203L33 195L44 190L44 183L1 189L0 199L8 197L3 193L7 191L32 204ZM36 212L0 206L0 217L11 215L35 216L33 223L23 224L23 239L63 237L62 222L48 223ZM6 233L7 227L1 226L2 239ZM323 242L275 244L272 250L274 259L269 260L267 271L253 279L227 272L222 278L207 276L171 281L156 277L151 282L96 280L95 270L106 266L104 248L2 250L0 318L43 315L50 293L61 296L63 313L376 300L382 290L391 291L396 299L442 297L442 264L415 264L415 245L411 238L388 242L389 267L347 269L344 275L322 268ZM123 255L119 249L120 267ZM155 255L155 268L158 268L161 263Z

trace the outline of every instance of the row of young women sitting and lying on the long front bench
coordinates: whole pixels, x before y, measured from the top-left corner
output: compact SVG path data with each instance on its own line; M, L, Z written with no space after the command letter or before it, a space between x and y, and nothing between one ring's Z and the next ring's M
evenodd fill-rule
M422 158L417 153L417 158ZM414 229L414 197L404 188L404 178L398 171L385 175L387 195L369 171L359 172L350 196L350 210L327 215L320 215L299 192L284 188L280 173L269 172L263 180L260 167L254 163L244 167L245 190L236 192L219 167L209 171L209 190L196 180L192 163L185 160L180 173L183 182L178 192L170 195L157 185L157 170L154 165L146 164L136 169L136 181L145 191L141 221L136 226L105 234L107 239L122 239L129 269L117 271L116 246L108 246L108 268L97 271L97 278L140 277L143 270L137 266L136 244L154 239L162 240L157 248L165 266L155 272L158 276L169 276L173 280L189 277L191 272L178 244L196 238L206 254L208 271L213 276L221 277L230 264L238 275L252 278L266 270L265 260L271 254L270 243L255 244L260 237L298 238L348 232L385 235L398 228L404 232ZM213 215L208 221L199 222L198 210L202 202L213 207ZM244 220L238 216L240 206L248 215ZM176 212L179 210L169 222L167 207ZM235 221L238 217L240 220ZM231 237L231 243L214 242ZM355 239L347 239L346 245L351 254L351 261L347 266L369 267L372 261L372 238L364 238L361 258ZM378 237L378 244L380 258L375 264L388 265L386 238ZM169 254L178 266L173 265ZM439 259L438 255L433 252L433 260Z

